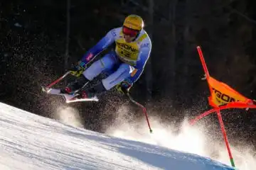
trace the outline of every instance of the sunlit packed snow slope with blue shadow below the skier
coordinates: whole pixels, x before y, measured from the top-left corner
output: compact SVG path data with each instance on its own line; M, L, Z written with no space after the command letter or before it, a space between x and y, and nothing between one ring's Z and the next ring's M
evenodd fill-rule
M124 140L0 103L0 169L229 170L196 154Z

